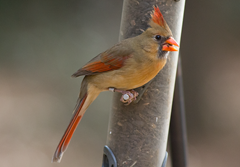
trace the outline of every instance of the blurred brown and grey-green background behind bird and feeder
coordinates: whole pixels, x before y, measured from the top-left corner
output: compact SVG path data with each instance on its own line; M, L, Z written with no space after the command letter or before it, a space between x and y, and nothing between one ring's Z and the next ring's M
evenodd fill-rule
M187 1L181 40L189 166L240 159L240 1ZM51 158L82 78L71 74L118 42L122 1L0 1L0 166L101 166L112 93ZM170 164L168 163L168 166Z

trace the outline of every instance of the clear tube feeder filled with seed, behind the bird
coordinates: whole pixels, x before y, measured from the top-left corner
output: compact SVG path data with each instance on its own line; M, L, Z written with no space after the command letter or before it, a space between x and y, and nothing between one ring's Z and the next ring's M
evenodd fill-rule
M142 30L146 30L153 5L159 6L174 38L180 42L185 0L125 0L120 39L139 35ZM119 101L121 95L114 94L107 146L115 155L117 165L106 161L109 165L107 167L162 166L177 62L178 53L171 53L166 66L154 78L137 104L126 106Z

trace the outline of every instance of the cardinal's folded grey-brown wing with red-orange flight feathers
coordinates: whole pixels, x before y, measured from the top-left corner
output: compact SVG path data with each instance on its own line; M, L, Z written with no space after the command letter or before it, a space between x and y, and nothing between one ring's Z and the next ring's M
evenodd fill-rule
M121 43L97 55L72 76L96 75L102 72L117 70L131 56L132 51Z

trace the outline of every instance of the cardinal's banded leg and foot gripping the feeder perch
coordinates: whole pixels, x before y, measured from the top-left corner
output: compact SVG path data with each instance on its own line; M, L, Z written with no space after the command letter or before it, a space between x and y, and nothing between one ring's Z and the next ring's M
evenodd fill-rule
M123 103L127 103L126 105L129 105L132 101L136 100L138 96L138 92L134 90L120 90L116 88L109 88L109 90L112 92L122 93L120 101Z

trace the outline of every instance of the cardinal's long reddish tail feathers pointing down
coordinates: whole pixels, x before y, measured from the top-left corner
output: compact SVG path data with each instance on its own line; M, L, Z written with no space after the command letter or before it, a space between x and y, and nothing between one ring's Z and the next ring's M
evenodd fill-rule
M74 131L76 130L77 125L80 122L80 120L84 114L84 112L81 113L81 111L82 111L83 104L86 101L86 98L87 98L87 93L77 103L73 117L72 117L72 119L71 119L71 121L70 121L61 141L59 142L54 155L53 155L52 162L60 162L61 161L63 153L64 153L64 151L66 151L66 149L70 143L70 140L72 138L72 135L73 135Z

